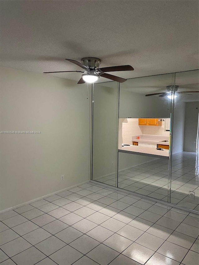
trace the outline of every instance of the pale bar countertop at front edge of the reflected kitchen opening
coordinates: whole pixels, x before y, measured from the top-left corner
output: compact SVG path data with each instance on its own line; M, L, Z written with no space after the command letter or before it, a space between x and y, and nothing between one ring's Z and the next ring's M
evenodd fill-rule
M138 140L138 139L136 139L136 140ZM169 143L166 143L166 144L169 144ZM118 152L133 153L133 154L137 154L137 155L148 155L148 156L159 157L159 158L160 158L160 156L164 157L164 158L169 157L169 150L168 149L157 150L156 148L142 147L142 146L137 146L137 145L125 146L125 147L118 148Z

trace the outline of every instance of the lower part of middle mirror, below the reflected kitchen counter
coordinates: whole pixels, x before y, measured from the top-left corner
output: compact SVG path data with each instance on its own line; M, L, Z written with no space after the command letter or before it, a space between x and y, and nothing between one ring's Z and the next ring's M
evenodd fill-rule
M165 158L118 153L118 187L167 202L168 164Z

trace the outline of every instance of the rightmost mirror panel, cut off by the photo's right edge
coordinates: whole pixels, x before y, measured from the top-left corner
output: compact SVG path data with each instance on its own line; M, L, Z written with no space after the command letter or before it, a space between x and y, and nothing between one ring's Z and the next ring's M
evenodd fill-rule
M198 70L176 73L171 175L171 203L196 211L199 211L198 80Z

